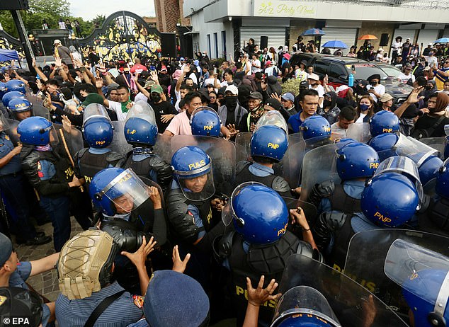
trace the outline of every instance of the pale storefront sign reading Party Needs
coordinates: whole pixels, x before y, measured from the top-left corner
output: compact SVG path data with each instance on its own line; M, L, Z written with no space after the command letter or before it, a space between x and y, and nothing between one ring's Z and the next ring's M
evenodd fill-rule
M317 4L294 0L253 0L254 16L307 17L317 15Z

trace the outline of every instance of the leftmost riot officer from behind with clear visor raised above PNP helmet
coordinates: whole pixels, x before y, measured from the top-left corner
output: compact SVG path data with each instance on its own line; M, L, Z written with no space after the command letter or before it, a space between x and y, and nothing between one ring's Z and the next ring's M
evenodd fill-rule
M98 103L88 105L84 110L83 134L89 148L81 149L74 156L75 173L82 176L88 186L98 171L123 166L123 156L108 149L113 140L113 132L106 108Z

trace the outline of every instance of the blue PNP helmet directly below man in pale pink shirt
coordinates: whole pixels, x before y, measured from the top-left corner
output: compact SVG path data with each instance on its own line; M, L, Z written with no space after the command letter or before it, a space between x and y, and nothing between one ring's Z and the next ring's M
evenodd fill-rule
M220 137L221 127L222 121L212 108L200 107L191 115L192 135Z

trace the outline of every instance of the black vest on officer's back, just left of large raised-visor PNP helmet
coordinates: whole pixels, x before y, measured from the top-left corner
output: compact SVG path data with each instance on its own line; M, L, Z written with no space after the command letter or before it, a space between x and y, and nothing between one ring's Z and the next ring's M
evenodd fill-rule
M348 253L349 241L356 234L351 226L351 220L355 212L361 212L360 200L346 194L343 185L335 185L334 193L329 197L332 210L343 212L346 214L345 222L341 229L334 234L335 241L331 251L331 255L327 258L326 263L329 266L334 264L344 267L346 262L346 254Z

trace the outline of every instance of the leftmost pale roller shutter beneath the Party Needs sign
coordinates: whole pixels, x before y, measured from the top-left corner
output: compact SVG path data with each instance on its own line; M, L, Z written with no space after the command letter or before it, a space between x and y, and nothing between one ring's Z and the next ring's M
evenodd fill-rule
M261 36L268 36L268 49L274 47L278 50L280 45L285 45L285 28L278 27L241 27L240 28L240 47L243 49L250 38L254 38L256 45L261 44Z

